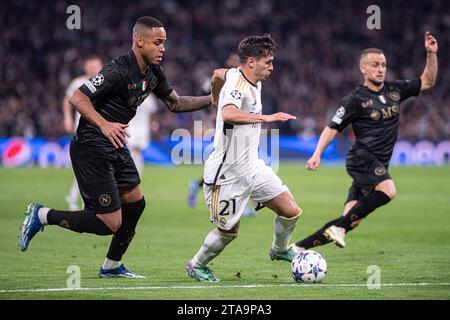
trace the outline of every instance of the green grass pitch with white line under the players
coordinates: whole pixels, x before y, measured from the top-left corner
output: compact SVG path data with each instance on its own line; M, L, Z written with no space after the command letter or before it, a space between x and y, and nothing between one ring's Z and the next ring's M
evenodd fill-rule
M27 252L17 246L25 206L66 208L70 169L0 169L0 299L450 299L450 167L392 168L397 198L346 237L347 247L318 247L328 263L325 282L297 285L289 264L270 261L274 214L243 218L241 233L213 261L218 284L184 274L189 258L212 229L200 194L186 206L187 182L202 167L147 166L147 208L125 265L146 279L100 279L109 237L46 227ZM344 166L307 172L282 163L280 177L303 209L292 240L341 213L350 178ZM65 290L67 268L79 266L82 290ZM381 270L381 288L368 289L367 269ZM41 289L41 290L35 290Z

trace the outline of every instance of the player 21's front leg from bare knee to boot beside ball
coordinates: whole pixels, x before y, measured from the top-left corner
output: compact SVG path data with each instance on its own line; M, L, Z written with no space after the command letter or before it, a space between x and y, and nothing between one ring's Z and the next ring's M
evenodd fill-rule
M273 222L274 238L269 256L272 260L292 261L295 252L288 247L302 210L289 190L264 203L277 214Z

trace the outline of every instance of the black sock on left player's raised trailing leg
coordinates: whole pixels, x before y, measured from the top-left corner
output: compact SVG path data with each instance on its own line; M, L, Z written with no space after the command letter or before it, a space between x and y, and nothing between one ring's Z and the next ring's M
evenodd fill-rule
M60 211L52 209L47 214L47 222L50 225L58 225L80 233L94 233L99 236L113 234L111 229L97 218L95 212L90 210Z

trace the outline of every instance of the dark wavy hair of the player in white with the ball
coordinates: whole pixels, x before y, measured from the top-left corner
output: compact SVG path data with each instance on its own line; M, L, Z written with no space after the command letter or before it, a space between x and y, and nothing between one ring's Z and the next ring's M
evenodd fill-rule
M278 45L270 34L247 37L239 43L239 61L245 63L249 57L259 59L268 55L274 55L277 48Z

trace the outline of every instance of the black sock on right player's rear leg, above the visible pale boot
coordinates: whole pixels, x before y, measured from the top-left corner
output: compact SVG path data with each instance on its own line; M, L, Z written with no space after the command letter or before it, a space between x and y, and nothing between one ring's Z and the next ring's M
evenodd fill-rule
M353 229L351 226L356 220L360 220L369 215L376 208L381 207L391 201L383 191L375 190L365 197L362 197L358 202L350 209L350 211L342 217L342 219L336 223L337 227L345 229L345 232Z

